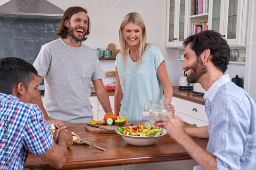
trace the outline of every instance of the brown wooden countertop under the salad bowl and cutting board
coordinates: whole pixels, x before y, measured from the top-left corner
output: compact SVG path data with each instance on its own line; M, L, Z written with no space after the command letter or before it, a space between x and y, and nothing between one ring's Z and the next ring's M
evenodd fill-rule
M131 121L138 125L140 121ZM106 151L91 145L72 145L68 149L68 162L61 169L84 169L106 166L120 166L175 160L187 160L191 157L168 135L160 138L154 145L138 147L126 143L119 134L100 134L85 130L86 124L69 124L67 130L75 132L81 139L90 141ZM185 126L190 126L185 123ZM208 139L194 138L203 149ZM25 169L55 169L37 156L29 153Z

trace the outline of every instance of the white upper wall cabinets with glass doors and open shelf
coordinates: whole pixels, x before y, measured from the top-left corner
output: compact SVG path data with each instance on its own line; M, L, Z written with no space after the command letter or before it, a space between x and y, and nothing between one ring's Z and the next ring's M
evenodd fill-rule
M248 1L207 2L208 11L194 15L193 0L167 0L166 47L183 47L184 38L195 34L194 25L202 22L207 22L208 30L219 32L230 47L246 46Z

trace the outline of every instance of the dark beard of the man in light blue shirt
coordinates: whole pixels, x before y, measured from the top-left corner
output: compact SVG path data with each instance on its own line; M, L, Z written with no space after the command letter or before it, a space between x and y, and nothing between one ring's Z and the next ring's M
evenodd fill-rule
M191 74L187 76L188 83L197 83L200 77L207 72L207 68L200 57L197 58L197 61L190 68Z

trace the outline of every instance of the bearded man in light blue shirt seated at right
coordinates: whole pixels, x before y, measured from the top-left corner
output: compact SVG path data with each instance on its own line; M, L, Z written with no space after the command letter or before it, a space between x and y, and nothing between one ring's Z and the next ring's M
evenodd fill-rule
M189 83L200 83L209 126L184 128L178 116L159 119L174 140L199 165L194 169L255 169L256 105L248 93L224 75L230 59L229 46L215 31L188 37L183 69ZM189 137L209 138L206 150Z

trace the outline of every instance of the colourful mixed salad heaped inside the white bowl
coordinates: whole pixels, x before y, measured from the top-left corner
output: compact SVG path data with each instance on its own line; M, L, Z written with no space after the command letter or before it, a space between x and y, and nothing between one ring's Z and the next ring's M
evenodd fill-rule
M116 131L121 134L131 136L160 136L163 134L161 127L152 127L151 124L148 124L148 127L143 124L138 126L126 126L125 128L118 126Z

